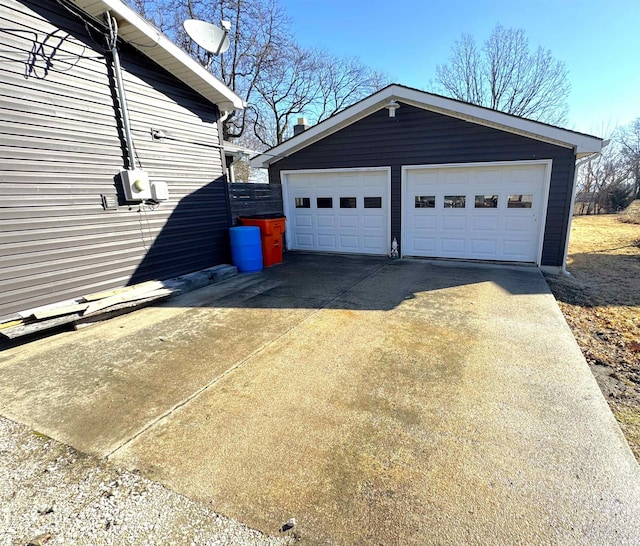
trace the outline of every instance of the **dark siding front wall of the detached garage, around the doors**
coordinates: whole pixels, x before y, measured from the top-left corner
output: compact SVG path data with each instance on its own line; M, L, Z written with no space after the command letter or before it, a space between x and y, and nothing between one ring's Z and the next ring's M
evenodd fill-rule
M391 237L400 241L403 165L539 159L553 160L541 265L557 266L571 206L571 149L402 104L395 118L381 109L277 161L269 181L280 183L280 171L289 169L390 166Z

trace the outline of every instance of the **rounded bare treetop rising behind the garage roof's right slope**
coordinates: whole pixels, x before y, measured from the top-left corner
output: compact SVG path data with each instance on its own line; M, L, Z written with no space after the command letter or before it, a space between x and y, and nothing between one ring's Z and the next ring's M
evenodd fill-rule
M508 114L561 124L571 89L567 69L551 51L529 48L524 30L497 25L482 48L463 34L449 63L436 67L439 90L453 98Z

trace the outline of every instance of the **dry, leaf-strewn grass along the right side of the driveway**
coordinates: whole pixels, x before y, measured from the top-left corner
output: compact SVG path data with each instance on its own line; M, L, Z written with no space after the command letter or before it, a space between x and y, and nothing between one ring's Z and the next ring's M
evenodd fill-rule
M547 280L640 460L640 222L621 216L574 218L572 276Z

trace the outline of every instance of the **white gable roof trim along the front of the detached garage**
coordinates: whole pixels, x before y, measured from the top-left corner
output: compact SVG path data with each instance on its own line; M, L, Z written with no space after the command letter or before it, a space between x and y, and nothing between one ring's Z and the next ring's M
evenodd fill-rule
M310 127L306 131L286 140L278 146L254 157L252 167L268 167L271 163L287 157L326 136L384 108L391 100L410 104L424 110L463 119L472 123L515 133L534 140L549 142L566 148L576 148L577 156L597 153L602 149L602 139L530 119L505 114L490 108L476 106L440 95L391 84L369 97L345 108L330 118Z

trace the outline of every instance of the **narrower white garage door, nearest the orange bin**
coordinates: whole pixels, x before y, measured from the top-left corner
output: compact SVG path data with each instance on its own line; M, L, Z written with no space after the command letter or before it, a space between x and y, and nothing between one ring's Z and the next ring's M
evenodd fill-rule
M287 246L388 254L390 170L283 173Z

